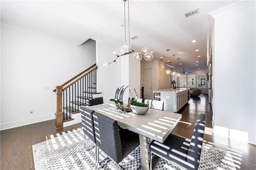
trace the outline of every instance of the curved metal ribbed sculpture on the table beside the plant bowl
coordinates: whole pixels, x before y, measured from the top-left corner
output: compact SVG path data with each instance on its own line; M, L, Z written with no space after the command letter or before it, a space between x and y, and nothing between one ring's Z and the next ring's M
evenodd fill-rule
M128 86L126 88L128 88ZM132 92L130 89L129 89L130 95L129 95L129 99L128 99L128 104L126 107L124 107L123 96L124 96L124 91L126 90L126 88L124 88L124 86L122 86L121 88L116 89L115 104L116 104L116 107L122 111L132 111L132 109L130 107L130 103L132 102ZM134 89L134 91L135 91L135 99L134 100L137 101L138 94L135 89Z

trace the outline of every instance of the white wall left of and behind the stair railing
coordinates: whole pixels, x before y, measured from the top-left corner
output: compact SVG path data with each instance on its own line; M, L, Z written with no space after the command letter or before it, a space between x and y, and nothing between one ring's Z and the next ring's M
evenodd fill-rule
M54 119L52 90L96 63L95 41L77 47L25 29L1 25L1 130Z

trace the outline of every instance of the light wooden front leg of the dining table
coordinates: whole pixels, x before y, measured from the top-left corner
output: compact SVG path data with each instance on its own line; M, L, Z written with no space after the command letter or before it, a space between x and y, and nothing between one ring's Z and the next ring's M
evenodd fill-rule
M141 158L142 170L149 170L148 145L147 145L146 137L141 134L139 134L139 136L140 136L140 158Z

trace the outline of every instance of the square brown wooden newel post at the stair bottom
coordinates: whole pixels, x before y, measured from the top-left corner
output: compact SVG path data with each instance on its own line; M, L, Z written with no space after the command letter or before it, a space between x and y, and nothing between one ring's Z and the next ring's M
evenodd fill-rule
M56 86L56 95L57 95L57 102L56 102L56 117L55 117L55 127L59 129L63 127L63 112L62 112L62 86Z

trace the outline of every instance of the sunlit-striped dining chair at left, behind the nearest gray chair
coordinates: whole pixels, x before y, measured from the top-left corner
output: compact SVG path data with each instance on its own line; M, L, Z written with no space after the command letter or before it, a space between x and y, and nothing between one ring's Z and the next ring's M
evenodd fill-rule
M97 164L97 145L96 145L96 138L95 138L95 131L94 131L94 123L92 113L94 110L90 109L89 107L81 106L80 107L81 118L82 118L82 127L84 131L84 149L90 150L91 148L86 149L86 136L94 143L95 147L95 164Z

